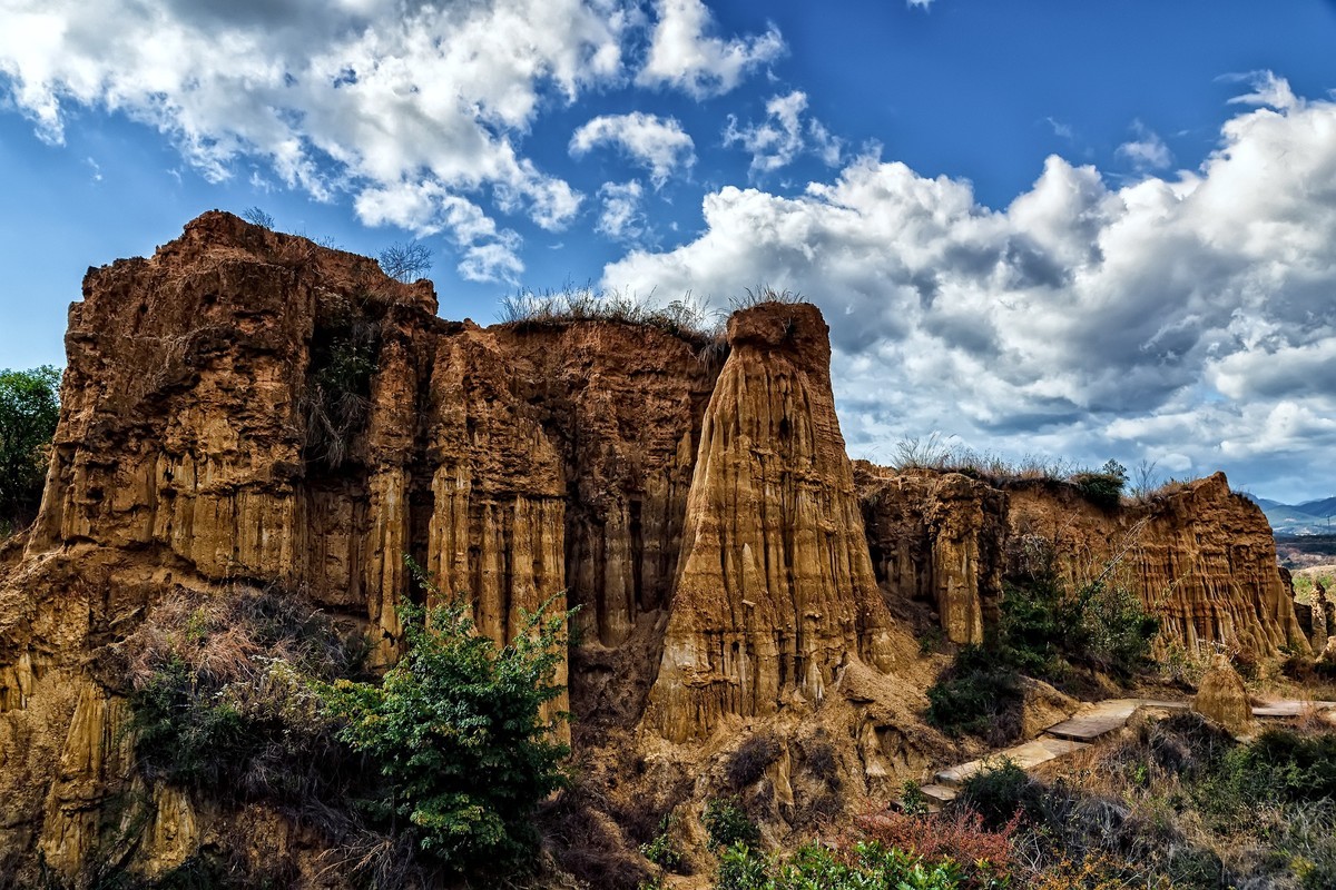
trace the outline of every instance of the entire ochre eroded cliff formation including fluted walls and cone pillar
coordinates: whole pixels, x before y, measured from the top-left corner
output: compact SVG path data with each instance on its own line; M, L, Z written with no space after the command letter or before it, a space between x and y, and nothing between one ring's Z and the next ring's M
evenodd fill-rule
M182 590L302 591L382 666L405 555L497 640L521 610L580 606L577 758L629 745L671 771L775 719L852 739L850 795L914 778L934 743L896 723L926 703L900 606L982 639L1030 536L1071 575L1121 558L1188 647L1307 647L1265 519L1224 476L1104 508L1065 483L855 472L812 306L741 310L727 343L436 311L426 282L220 212L90 271L40 516L0 548L12 862L77 873L128 791L151 802L127 853L144 873L242 822L319 847L281 813L243 819L135 774L118 644ZM792 802L800 746L780 749Z

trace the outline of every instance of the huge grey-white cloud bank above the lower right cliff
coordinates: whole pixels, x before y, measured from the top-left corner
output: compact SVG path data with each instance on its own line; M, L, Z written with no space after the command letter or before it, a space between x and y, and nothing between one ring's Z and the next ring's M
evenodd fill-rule
M1257 107L1194 172L1113 187L1051 156L990 208L969 181L863 156L796 197L721 188L699 238L604 282L808 295L846 436L872 456L941 430L1279 478L1336 444L1336 103L1250 84Z

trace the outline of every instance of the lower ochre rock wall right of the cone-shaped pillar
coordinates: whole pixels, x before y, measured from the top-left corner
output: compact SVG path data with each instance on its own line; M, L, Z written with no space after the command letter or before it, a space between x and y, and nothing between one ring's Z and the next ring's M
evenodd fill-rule
M1109 574L1129 584L1189 650L1220 643L1276 655L1308 647L1261 510L1224 474L1113 510L1075 486L991 486L955 472L860 467L878 578L931 602L953 642L981 642L1001 582L1025 574L1026 542L1051 547L1075 582Z

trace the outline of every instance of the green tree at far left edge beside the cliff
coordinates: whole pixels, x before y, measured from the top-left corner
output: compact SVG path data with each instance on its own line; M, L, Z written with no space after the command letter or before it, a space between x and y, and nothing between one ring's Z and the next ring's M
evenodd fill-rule
M0 371L0 526L31 519L60 419L60 371Z

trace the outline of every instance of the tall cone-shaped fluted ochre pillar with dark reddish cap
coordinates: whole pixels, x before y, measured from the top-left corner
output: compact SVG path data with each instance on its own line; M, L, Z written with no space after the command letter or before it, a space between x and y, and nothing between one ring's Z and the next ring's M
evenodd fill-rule
M872 575L820 312L762 304L728 338L647 713L672 741L819 701L848 659L890 670L906 643Z

